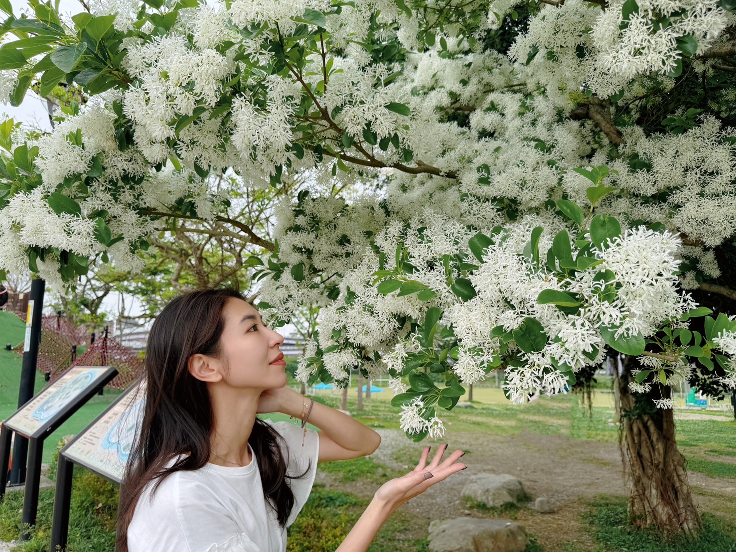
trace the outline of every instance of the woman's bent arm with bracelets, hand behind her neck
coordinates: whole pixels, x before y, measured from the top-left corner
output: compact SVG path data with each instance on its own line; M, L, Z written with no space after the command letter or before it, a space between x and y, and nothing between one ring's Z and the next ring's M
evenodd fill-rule
M283 412L299 418L309 399L288 387L269 389L261 394L258 412ZM309 423L319 431L319 460L348 460L368 456L381 445L381 436L352 417L340 411L314 402Z

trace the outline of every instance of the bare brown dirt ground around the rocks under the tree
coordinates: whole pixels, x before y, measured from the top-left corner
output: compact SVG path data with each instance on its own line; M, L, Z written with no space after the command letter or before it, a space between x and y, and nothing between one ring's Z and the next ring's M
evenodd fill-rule
M399 431L378 431L383 441L372 458L400 473L411 470L411 462L419 458L426 443L407 442ZM581 523L581 514L589 508L587 503L600 494L626 494L616 443L582 441L565 435L522 433L499 437L455 433L450 450L454 448L467 450L463 460L468 470L455 475L452 482L431 487L403 506L420 520L413 537L424 537L431 520L484 516L483 512L466 509L461 500L463 479L474 473L509 473L520 478L532 497L544 496L551 501L556 509L553 514L539 514L528 508L517 514L517 521L537 537L547 552L569 550L570 543L578 550L592 551L595 547ZM325 473L319 475L319 480L364 498L369 498L377 486L364 481L333 483ZM693 472L690 483L701 509L727 513L724 501L736 495L736 481Z

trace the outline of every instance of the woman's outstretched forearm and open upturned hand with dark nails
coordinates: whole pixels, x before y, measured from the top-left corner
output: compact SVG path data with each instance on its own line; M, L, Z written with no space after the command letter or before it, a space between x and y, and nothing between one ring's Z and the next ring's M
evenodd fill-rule
M439 463L446 449L447 445L440 445L432 463L425 467L429 447L425 448L422 459L414 471L383 484L335 552L367 551L381 526L386 523L395 509L407 500L425 492L430 486L450 477L453 473L464 470L466 467L464 464L456 464L464 455L462 450L456 450L442 464Z

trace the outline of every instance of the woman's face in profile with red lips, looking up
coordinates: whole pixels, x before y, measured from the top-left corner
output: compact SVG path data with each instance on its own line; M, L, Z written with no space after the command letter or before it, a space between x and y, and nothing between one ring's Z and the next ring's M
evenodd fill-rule
M220 338L224 381L233 387L277 389L286 385L286 361L280 333L263 325L261 315L244 300L231 297L224 311Z

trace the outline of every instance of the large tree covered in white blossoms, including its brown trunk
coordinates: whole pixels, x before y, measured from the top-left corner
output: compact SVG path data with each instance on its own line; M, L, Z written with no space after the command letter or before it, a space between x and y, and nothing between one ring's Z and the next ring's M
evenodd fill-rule
M733 0L83 5L0 0L0 96L91 96L0 126L0 266L63 287L226 220L266 251L264 314L320 309L302 381L389 372L415 440L493 369L523 402L623 353L632 519L698 529L670 389L696 363L736 385L736 319L687 291L736 297ZM233 218L296 174L272 236Z

